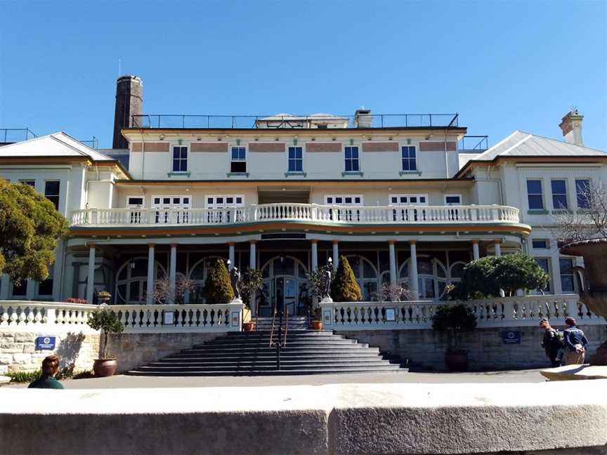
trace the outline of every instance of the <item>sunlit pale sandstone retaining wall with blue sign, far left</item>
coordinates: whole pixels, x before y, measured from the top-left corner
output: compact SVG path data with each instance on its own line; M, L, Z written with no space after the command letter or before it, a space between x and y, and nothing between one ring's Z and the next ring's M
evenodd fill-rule
M99 335L83 332L9 331L0 329L0 374L37 371L47 355L56 354L61 367L74 365L75 371L89 371L98 358ZM55 336L54 350L36 350L36 338ZM1 453L1 452L0 452Z

